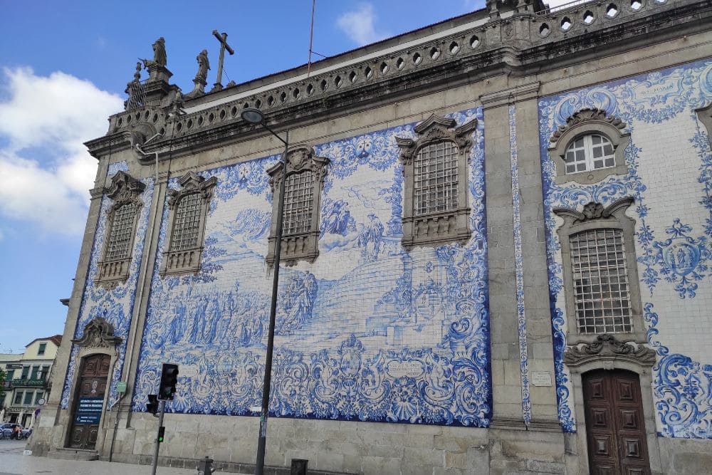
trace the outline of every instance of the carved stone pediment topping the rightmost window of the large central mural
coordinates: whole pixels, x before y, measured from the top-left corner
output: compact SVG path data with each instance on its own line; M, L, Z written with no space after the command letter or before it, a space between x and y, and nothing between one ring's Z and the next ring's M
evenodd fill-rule
M410 165L418 150L431 142L451 140L455 142L461 155L470 156L472 148L472 132L477 128L477 119L470 120L460 127L455 127L454 119L438 117L432 114L429 118L414 127L419 135L417 140L396 137L396 143L401 149L400 159L404 165Z

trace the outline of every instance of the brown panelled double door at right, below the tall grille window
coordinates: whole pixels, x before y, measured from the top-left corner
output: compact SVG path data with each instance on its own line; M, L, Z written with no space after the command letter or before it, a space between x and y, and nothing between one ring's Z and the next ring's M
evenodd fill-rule
M596 370L583 376L591 474L650 474L638 375Z

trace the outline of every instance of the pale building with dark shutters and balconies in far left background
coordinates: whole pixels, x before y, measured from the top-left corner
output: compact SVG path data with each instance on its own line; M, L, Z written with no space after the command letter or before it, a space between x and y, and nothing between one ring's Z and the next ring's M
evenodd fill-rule
M3 355L6 372L4 418L24 427L33 424L51 391L51 372L62 335L37 338L18 355ZM0 360L2 361L2 360Z

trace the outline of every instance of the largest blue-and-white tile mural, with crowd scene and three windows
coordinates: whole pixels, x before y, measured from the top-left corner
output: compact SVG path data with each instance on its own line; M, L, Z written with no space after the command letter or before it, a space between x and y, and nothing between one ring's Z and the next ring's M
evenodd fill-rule
M395 137L415 124L317 145L330 165L320 255L280 271L271 413L487 427L491 418L481 109L469 169L466 245L402 249L403 175ZM218 182L197 275L158 275L133 409L145 410L162 362L180 367L167 410L254 414L261 401L271 272L266 268L277 156L201 172ZM177 178L169 187L177 186Z

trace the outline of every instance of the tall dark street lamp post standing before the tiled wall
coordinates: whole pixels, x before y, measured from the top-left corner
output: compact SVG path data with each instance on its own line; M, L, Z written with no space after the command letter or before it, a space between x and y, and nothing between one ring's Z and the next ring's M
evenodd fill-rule
M265 123L265 118L261 110L247 108L242 111L241 117L245 122L262 125L272 135L277 137L284 144L284 153L281 162L283 167L287 166L287 151L289 148L289 131L283 139ZM277 229L275 231L274 243L274 274L272 278L272 300L269 308L269 332L267 336L267 355L265 357L265 379L262 387L262 408L260 412L260 433L257 439L257 463L255 475L263 475L265 466L265 447L267 444L267 412L269 410L269 390L272 383L272 353L274 348L274 323L277 315L277 285L279 283L279 258L282 254L282 221L284 220L284 175L278 184L279 197L277 202Z

